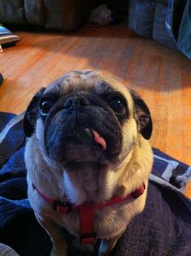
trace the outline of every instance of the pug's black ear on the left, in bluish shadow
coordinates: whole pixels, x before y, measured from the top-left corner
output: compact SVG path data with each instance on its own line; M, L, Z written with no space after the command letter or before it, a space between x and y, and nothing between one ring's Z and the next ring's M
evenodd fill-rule
M45 88L42 88L35 94L35 96L32 98L32 101L29 103L27 111L23 117L23 131L27 137L31 137L35 130L36 119L38 117L38 106L44 91Z

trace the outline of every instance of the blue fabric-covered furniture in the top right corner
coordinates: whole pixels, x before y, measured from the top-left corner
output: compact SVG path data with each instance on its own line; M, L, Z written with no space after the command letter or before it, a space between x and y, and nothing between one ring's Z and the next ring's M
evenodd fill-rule
M129 0L129 28L191 59L191 0Z

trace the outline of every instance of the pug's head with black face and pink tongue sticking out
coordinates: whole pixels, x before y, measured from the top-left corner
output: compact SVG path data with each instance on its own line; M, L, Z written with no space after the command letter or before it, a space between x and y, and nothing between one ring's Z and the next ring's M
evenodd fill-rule
M115 163L151 137L148 107L134 91L98 72L70 72L32 98L23 120L27 137L65 168Z

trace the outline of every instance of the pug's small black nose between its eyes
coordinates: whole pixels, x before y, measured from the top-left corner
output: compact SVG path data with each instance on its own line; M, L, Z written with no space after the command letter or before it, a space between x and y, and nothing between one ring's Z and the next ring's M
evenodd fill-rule
M88 98L75 96L75 97L68 98L64 103L63 107L70 110L74 110L79 106L87 106L90 104L91 102Z

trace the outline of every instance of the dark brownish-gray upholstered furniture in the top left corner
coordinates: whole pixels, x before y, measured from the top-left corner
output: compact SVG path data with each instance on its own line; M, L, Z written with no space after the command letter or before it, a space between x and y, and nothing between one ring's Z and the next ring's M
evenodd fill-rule
M1 0L0 23L72 30L91 12L91 0Z

